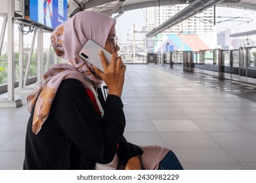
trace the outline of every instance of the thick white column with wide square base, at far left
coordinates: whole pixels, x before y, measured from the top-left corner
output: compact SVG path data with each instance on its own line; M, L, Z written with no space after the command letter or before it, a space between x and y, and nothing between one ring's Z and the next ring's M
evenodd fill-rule
M8 64L7 98L0 100L0 107L19 107L22 100L14 100L14 0L7 3L8 21Z

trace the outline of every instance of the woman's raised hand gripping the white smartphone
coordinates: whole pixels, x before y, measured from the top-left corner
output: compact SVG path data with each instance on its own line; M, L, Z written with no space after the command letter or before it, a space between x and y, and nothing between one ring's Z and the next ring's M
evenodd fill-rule
M121 97L123 92L123 83L125 81L126 66L123 65L121 57L117 57L117 53L112 54L110 64L106 61L104 53L100 50L100 59L103 65L104 73L93 66L95 73L104 80L108 86L108 93Z

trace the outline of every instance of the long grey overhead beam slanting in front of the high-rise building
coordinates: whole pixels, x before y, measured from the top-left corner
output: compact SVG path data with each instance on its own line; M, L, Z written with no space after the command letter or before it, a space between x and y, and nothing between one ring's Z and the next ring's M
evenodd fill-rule
M184 8L179 13L175 14L175 16L172 16L169 20L163 22L163 24L159 25L148 34L146 34L146 37L152 37L154 35L157 35L165 29L168 29L169 27L179 24L187 18L190 18L190 16L194 16L195 14L198 14L198 12L202 12L206 8L216 5L220 1L223 0L195 0L194 2L190 3L188 7Z

